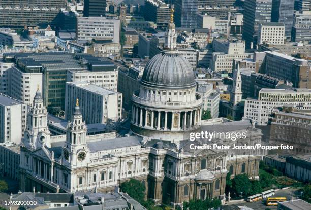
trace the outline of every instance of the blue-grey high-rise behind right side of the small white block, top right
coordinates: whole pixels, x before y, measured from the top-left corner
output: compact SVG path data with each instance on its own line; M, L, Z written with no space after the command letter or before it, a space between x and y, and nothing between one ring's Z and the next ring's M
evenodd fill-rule
M290 38L295 0L272 0L271 22L284 23L285 37Z

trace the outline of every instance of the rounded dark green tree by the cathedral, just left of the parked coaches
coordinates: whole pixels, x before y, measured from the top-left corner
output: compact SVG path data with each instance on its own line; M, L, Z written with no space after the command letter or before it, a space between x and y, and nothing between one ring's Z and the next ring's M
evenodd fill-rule
M236 175L232 179L232 191L237 196L243 193L242 195L249 195L251 191L252 183L246 174Z

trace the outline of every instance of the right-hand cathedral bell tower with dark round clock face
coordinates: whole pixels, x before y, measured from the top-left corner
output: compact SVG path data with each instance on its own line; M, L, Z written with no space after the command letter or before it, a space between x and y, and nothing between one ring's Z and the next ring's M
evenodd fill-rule
M67 124L66 143L63 148L63 160L72 166L83 164L88 159L86 131L86 124L82 120L79 107L79 99L77 99L72 121Z

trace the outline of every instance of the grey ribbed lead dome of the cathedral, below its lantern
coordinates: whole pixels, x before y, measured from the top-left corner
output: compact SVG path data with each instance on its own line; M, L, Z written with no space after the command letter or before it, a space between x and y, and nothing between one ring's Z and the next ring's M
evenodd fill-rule
M189 62L177 53L160 53L146 65L142 84L148 86L195 86L195 76Z

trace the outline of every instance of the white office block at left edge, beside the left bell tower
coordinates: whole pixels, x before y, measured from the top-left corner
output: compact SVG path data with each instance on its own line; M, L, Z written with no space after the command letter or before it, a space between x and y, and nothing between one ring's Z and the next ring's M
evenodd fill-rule
M20 144L26 129L27 105L0 93L0 143Z

